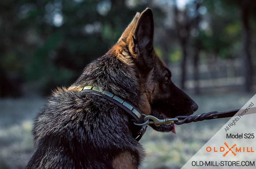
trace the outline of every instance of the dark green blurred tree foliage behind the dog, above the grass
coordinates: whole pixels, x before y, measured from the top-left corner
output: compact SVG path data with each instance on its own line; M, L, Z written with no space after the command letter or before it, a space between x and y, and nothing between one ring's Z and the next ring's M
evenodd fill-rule
M172 12L171 7L167 8L169 3L172 1L1 0L0 74L7 79L18 76L22 79L22 89L41 94L48 94L56 86L69 86L87 63L117 42L135 13L146 7L154 12L157 53L167 63L179 63L182 53L177 32L173 26L165 26L167 12ZM191 9L191 19L193 3L188 0L184 7ZM239 1L200 0L200 3L206 9L202 17L208 23L208 28L197 30L202 41L202 59L207 60L209 54L221 59L240 57ZM251 9L255 56L255 3ZM54 17L59 15L61 24L56 25ZM191 36L189 46L195 44L196 38L197 35Z

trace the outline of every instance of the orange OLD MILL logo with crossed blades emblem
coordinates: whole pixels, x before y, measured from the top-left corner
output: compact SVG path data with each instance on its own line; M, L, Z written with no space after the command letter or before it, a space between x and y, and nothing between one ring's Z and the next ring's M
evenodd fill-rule
M223 157L225 157L229 152L231 152L234 156L236 156L236 153L253 153L253 149L252 147L237 147L236 144L232 145L231 147L229 147L229 145L227 145L226 142L224 142L224 146L220 146L219 148L217 147L210 147L208 146L206 148L207 152L225 152L223 154ZM213 150L213 151L212 151Z

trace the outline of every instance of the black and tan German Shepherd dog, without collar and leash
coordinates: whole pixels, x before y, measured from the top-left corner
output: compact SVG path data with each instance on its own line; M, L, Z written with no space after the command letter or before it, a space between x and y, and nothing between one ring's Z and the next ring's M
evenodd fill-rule
M68 89L58 88L33 123L35 152L27 169L138 168L142 145L123 109L93 93L96 86L125 99L146 115L159 119L191 115L197 104L171 80L171 72L153 48L154 21L150 8L137 13L118 42L88 64ZM167 125L157 131L173 131Z

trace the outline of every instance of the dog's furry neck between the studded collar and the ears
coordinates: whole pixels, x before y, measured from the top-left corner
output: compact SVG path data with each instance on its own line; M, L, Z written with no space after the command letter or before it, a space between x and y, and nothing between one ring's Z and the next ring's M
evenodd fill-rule
M98 67L88 64L69 90L81 90L84 86L97 86L131 102L143 114L150 114L148 94L135 60L122 43L117 43L104 56L95 60ZM109 64L112 66L110 67ZM112 72L113 71L113 72ZM90 73L89 73L90 72ZM93 73L91 73L93 72ZM106 83L106 78L113 83Z

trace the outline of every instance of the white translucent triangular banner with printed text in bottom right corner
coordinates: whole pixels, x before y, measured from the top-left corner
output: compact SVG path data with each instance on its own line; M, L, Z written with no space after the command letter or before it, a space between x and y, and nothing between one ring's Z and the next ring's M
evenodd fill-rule
M254 95L181 169L255 169Z

